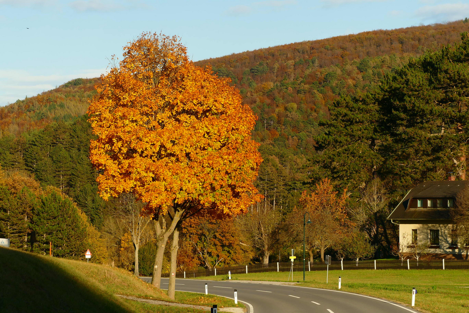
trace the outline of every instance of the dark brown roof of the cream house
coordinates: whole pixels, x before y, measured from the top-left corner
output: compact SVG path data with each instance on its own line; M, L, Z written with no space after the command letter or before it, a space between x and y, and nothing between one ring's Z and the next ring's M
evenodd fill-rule
M428 181L410 190L398 206L389 214L393 220L448 220L451 219L450 210L445 209L409 209L411 198L456 198L459 191L469 186L469 181Z

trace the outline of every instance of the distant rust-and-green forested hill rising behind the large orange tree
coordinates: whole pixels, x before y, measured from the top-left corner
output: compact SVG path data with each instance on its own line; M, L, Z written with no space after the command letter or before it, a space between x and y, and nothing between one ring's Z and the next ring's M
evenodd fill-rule
M361 98L374 91L387 72L426 50L460 41L463 31L469 31L469 23L464 21L368 31L237 53L198 61L197 65L211 66L219 76L230 77L258 115L253 137L262 144L265 161L257 185L268 203L288 210L322 173L316 169L312 175L312 168L318 155L318 136L324 131L319 124L328 119L333 101L341 95ZM43 177L42 183L59 186L80 206L87 206L87 214L98 214L101 206L94 195L96 174L88 170L87 149L74 148L72 139L80 129L86 133L80 142L91 136L80 117L98 81L78 78L0 108L1 166L26 169L39 180ZM74 122L62 123L71 120ZM31 133L51 123L50 128ZM19 134L24 135L17 137ZM41 140L50 144L41 146ZM36 160L36 156L44 160ZM65 176L62 159L69 160ZM83 182L74 184L72 173L81 172L76 164L79 160L89 173ZM36 161L41 162L39 167Z

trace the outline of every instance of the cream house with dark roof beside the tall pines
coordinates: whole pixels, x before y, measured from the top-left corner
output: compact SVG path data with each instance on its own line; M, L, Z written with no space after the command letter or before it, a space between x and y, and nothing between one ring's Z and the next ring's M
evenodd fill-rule
M451 219L451 210L458 201L458 193L469 181L424 182L410 190L388 220L399 225L399 242L410 252L412 244L427 242L428 253L437 259L462 259L467 243L458 243ZM405 250L404 250L405 251Z

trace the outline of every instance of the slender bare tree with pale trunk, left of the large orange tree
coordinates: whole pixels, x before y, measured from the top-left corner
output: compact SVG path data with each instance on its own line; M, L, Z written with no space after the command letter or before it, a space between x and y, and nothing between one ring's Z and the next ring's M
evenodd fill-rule
M124 223L132 237L132 243L135 248L134 275L138 276L138 249L140 247L142 233L151 219L140 214L143 204L136 201L135 196L131 193L122 193L118 198L116 208L115 216Z

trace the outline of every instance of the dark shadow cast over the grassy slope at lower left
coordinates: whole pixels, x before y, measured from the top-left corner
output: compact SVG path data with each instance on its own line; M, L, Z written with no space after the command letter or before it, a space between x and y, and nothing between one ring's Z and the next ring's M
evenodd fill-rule
M47 258L8 248L0 248L0 311L130 312Z

